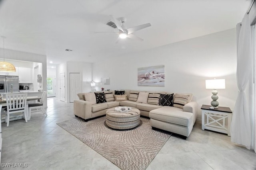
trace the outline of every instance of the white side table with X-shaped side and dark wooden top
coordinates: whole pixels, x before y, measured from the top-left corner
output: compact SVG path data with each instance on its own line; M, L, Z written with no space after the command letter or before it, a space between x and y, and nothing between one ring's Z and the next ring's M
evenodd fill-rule
M229 107L209 109L209 105L202 105L202 130L208 129L230 136L232 111ZM228 119L226 123L226 119Z

